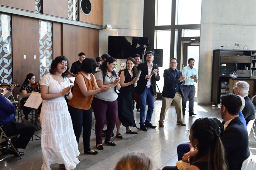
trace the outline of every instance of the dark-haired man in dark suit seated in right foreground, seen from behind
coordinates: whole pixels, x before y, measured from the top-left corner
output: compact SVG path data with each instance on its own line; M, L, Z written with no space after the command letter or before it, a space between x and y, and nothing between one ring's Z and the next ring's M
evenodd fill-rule
M242 101L238 95L224 94L221 97L220 114L225 120L221 141L225 148L230 170L240 170L249 157L248 133L238 117Z

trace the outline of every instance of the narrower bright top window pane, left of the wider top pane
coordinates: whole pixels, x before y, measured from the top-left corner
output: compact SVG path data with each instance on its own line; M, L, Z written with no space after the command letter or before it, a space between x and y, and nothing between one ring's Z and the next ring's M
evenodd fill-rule
M155 25L171 25L172 0L156 0Z

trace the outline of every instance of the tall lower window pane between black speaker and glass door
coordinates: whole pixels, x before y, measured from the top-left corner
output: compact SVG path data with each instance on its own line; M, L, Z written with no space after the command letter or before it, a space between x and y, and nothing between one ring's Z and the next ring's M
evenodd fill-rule
M164 70L170 66L170 46L171 46L171 30L159 30L155 31L156 43L155 49L163 49L163 66L159 67L159 75L163 77ZM160 91L162 92L164 87L164 78L160 78L157 82ZM157 92L158 89L157 89Z

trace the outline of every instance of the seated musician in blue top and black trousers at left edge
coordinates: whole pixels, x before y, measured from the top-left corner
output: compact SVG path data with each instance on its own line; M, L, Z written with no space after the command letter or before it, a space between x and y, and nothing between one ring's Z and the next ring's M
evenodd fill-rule
M4 92L0 88L1 92ZM29 143L30 138L36 131L36 127L32 124L16 123L15 120L16 107L11 102L0 94L0 126L7 136L20 135L18 138L11 139L13 146L25 149ZM15 154L14 151L7 150L10 148L7 142L1 144L6 146L2 149L2 153ZM20 155L24 155L24 152L19 152Z

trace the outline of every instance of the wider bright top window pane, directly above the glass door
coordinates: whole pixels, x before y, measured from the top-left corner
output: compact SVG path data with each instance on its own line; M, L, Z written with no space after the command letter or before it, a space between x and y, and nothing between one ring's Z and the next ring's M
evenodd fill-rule
M199 24L201 22L201 0L177 0L176 19L178 25Z

